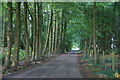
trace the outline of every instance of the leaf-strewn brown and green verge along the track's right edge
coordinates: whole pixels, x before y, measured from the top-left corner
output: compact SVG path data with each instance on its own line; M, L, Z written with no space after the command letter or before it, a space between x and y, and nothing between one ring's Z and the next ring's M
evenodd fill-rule
M85 70L83 73L89 73L88 78L115 78L115 72L112 71L110 62L94 64L93 58L85 58L83 54L79 55L78 59L81 71L83 67Z

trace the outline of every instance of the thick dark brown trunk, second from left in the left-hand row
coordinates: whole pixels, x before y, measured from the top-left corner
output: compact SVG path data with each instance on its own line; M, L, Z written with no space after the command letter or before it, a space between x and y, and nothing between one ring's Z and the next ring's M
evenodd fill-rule
M19 64L19 46L20 46L20 2L17 2L16 8L16 19L17 19L17 27L16 27L16 38L15 38L15 47L14 47L14 62L13 65L16 67Z

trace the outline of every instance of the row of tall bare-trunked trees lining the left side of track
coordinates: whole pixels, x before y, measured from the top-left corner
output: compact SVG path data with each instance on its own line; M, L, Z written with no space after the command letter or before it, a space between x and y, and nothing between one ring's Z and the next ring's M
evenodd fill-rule
M66 14L55 3L2 3L5 69L65 52Z

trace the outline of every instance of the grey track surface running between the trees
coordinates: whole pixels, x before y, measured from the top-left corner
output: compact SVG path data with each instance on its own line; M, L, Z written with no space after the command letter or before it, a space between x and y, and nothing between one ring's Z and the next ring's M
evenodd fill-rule
M12 78L82 78L77 54L64 54Z

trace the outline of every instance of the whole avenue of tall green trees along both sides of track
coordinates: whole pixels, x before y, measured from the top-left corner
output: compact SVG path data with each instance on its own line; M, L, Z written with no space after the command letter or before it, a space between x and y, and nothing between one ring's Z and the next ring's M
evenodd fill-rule
M120 61L119 2L4 2L2 9L5 69L65 53L75 44L95 64L111 53Z

